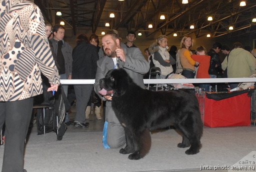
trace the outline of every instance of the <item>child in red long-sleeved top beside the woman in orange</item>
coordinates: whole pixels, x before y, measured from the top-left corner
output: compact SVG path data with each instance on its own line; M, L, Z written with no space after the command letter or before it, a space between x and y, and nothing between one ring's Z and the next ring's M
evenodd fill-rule
M195 50L196 54L192 54L191 58L199 62L196 72L196 78L210 78L208 69L210 66L210 56L206 55L206 49L203 46L199 46ZM204 88L205 91L209 91L209 83L199 84L200 88Z

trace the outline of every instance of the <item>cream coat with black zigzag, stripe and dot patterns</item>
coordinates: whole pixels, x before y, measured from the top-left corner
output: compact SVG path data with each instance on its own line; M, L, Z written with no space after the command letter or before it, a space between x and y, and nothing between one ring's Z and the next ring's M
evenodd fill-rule
M26 0L0 0L0 101L41 94L41 72L60 83L40 9Z

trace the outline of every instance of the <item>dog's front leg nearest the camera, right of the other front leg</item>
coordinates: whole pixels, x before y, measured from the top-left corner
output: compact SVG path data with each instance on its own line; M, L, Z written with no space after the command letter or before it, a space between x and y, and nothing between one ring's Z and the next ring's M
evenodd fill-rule
M129 154L129 159L140 159L144 157L151 147L151 135L148 128L144 129L140 133L134 134L134 148L135 151Z

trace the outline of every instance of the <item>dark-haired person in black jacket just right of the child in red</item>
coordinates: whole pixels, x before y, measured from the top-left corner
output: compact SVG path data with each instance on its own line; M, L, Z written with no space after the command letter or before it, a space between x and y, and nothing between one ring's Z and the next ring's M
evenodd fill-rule
M218 55L221 47L222 45L219 42L215 42L207 53L210 56L210 66L208 73L211 78L216 78L217 76L222 75L221 62Z

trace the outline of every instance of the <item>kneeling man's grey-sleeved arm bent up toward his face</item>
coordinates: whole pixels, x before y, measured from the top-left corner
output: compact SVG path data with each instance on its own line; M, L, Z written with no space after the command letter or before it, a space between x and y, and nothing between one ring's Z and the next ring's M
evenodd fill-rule
M132 71L138 72L140 74L145 74L149 70L149 62L147 62L142 55L139 48L133 48L133 52L125 55L125 62L120 61L119 65L122 65L124 68L130 69Z

